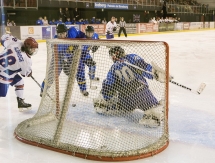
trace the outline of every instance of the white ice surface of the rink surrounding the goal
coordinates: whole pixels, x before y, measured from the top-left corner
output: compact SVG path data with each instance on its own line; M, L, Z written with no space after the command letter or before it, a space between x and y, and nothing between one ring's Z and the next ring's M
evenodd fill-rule
M215 30L144 34L120 39L167 42L170 47L169 70L175 81L194 90L206 83L200 95L169 83L169 146L153 157L129 162L214 163ZM32 57L33 76L39 83L45 77L46 53L46 43L42 42L37 55ZM31 111L18 111L14 87L9 88L6 98L0 98L0 162L95 162L27 145L14 138L16 126L34 116L41 100L37 84L31 78L24 78L24 81L24 97L32 104Z

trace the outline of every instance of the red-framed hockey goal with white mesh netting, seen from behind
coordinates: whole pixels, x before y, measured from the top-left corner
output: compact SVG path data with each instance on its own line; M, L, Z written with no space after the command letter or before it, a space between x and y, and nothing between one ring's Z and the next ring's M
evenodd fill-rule
M114 63L110 50L123 59ZM40 107L17 126L18 139L100 160L137 159L166 148L166 43L55 39L47 41L47 51ZM152 71L152 62L164 70L163 83L142 71ZM162 117L152 118L156 127L140 123L152 109Z

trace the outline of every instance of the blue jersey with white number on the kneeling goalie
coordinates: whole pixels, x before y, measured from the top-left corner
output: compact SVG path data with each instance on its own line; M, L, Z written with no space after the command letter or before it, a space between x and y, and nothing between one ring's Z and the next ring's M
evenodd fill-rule
M152 66L136 54L128 54L116 61L110 68L106 79L102 83L101 93L105 100L118 97L118 105L123 108L134 109L139 106L141 109L148 109L158 104L157 99L148 89L145 78L153 79L149 73L127 65L124 61L136 65L151 72Z

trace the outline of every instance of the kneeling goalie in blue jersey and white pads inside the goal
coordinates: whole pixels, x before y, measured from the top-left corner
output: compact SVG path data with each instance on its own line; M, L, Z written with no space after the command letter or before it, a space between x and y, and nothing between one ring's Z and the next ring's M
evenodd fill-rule
M144 116L139 120L140 124L147 127L160 125L161 113L158 107L160 102L149 90L145 78L163 81L165 75L158 66L146 63L136 54L125 54L120 46L110 48L109 55L114 64L110 68L106 79L102 83L101 95L94 99L94 107L97 113L104 115L122 115L139 108L144 111ZM154 75L141 71L131 65L138 66Z

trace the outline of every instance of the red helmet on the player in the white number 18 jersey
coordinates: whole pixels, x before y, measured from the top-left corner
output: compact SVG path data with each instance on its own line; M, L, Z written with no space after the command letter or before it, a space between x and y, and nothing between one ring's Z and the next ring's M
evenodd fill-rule
M30 56L35 55L38 51L37 41L32 37L28 37L24 41L24 46L22 46L22 51L24 51L25 53L27 53Z

